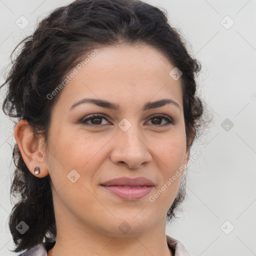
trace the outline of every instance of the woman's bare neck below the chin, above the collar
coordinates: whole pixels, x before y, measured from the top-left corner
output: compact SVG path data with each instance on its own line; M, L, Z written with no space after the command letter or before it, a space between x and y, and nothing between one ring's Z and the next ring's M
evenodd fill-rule
M48 251L48 256L173 256L167 245L165 229L159 232L154 228L142 235L127 233L124 236L102 234L88 227L86 232L65 230L58 229L55 245Z

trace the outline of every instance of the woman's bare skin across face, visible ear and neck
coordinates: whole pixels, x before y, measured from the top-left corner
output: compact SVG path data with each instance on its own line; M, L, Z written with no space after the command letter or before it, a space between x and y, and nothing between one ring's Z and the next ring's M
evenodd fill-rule
M178 191L177 179L157 198L153 195L182 164L186 164L186 134L180 79L169 72L174 66L147 45L121 45L98 49L99 53L62 88L52 109L48 147L37 140L26 120L14 130L22 157L33 175L51 178L57 237L48 255L172 255L165 237L165 217ZM100 98L120 105L112 110L83 103L82 98ZM142 111L147 101L172 99L174 104ZM79 120L90 114L105 118ZM174 120L151 118L163 114ZM127 131L118 127L126 118ZM98 127L96 124L102 124ZM111 124L111 125L108 125ZM34 166L40 173L34 174ZM75 169L80 177L71 182ZM100 186L116 177L151 179L150 194L123 200ZM118 226L126 221L126 233Z

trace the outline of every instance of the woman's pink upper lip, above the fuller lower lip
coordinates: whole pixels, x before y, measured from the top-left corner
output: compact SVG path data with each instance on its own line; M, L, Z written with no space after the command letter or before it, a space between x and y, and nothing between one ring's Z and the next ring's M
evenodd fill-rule
M153 181L145 177L128 178L119 177L110 179L101 185L103 186L121 186L121 187L143 187L143 186L154 186Z

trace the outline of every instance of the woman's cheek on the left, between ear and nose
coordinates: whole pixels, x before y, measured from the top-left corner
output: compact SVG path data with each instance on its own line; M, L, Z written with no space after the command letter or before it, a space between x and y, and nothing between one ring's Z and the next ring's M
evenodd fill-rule
M85 131L75 132L75 129L62 129L55 134L54 139L53 136L49 139L51 153L48 168L56 190L64 185L66 190L71 185L69 193L73 194L74 191L85 189L82 184L89 188L93 175L105 161L103 147L109 137L99 137L96 133L88 134ZM74 183L68 179L73 175L71 173L75 179L78 177Z

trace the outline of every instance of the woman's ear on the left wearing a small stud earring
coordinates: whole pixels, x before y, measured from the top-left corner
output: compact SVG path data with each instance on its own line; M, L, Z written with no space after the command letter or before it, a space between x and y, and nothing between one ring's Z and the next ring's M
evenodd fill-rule
M27 120L21 119L18 121L14 129L14 137L22 158L30 172L36 177L46 176L48 169L46 167L44 143L42 139L35 137ZM40 167L39 174L34 173L35 166Z

